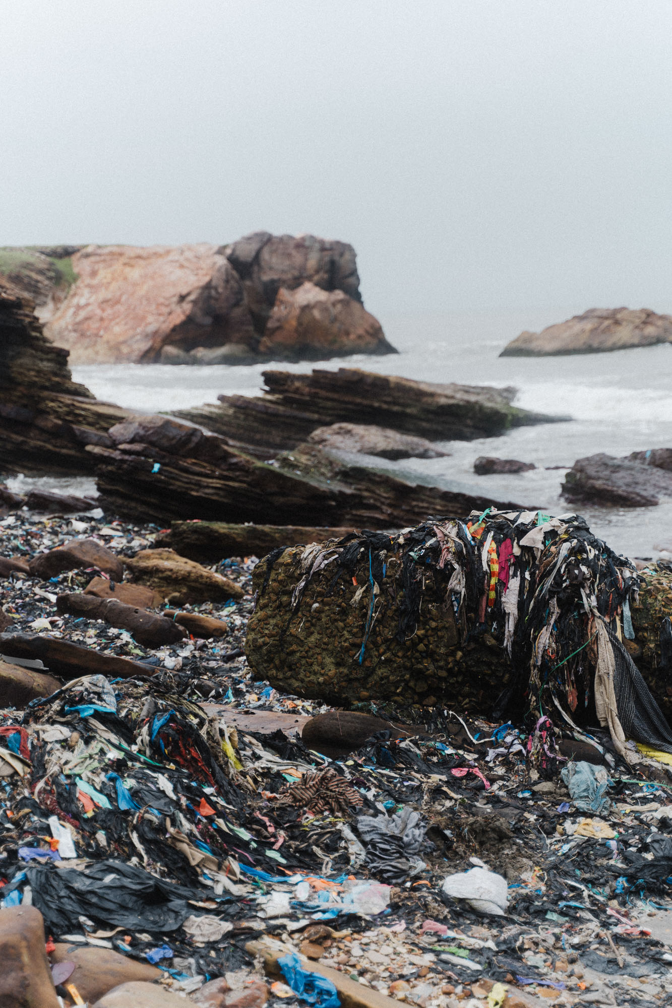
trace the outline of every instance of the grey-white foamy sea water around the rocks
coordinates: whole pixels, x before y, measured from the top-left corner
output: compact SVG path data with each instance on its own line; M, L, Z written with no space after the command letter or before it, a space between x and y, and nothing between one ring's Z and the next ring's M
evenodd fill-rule
M572 510L560 496L564 470L576 459L597 452L623 456L672 447L672 345L571 357L499 358L503 346L522 330L539 330L581 310L575 305L382 317L385 335L400 353L379 358L357 355L319 365L252 367L89 365L73 371L99 398L147 411L216 402L220 393L256 395L263 384L261 372L268 367L295 372L314 366L360 367L424 381L515 385L517 405L572 419L521 427L501 437L442 443L450 453L446 459L367 462L415 482L470 490L562 514ZM473 461L479 455L522 459L538 468L516 476L477 477ZM558 466L564 468L546 468ZM658 557L672 551L672 500L650 508L581 511L593 531L618 552Z

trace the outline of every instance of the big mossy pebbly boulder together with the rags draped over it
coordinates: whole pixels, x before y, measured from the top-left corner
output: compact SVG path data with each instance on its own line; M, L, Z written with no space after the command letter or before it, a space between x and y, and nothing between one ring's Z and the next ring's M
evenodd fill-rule
M657 702L669 707L667 690L654 699L631 653L642 653L634 624L653 629L641 619L647 575L580 516L487 508L278 547L253 584L247 657L278 688L549 716L574 734L597 722L628 759L626 738L672 752ZM665 584L669 599L669 572Z

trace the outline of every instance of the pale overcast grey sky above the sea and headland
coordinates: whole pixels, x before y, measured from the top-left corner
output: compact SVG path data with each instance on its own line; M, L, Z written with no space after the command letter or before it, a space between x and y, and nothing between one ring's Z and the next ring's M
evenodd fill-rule
M0 244L352 242L378 313L672 309L670 0L22 0Z

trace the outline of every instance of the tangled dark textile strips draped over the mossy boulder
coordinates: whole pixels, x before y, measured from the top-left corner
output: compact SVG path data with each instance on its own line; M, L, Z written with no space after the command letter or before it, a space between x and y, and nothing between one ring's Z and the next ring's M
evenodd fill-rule
M279 553L268 558L266 579ZM391 575L390 553L402 555ZM339 579L352 579L362 557L369 578L352 600L367 603L360 662L371 614L377 618L381 607L398 607L399 641L416 633L431 564L444 575L446 607L461 643L491 635L516 671L510 692L527 696L530 718L557 721L559 711L565 730L581 738L574 715L594 708L628 762L637 760L629 737L672 752L672 730L624 644L634 637L631 603L638 599L639 576L580 516L488 508L466 521L430 519L397 536L363 531L312 543L301 560L291 619L318 572L329 569L331 590ZM540 749L551 756L548 745Z

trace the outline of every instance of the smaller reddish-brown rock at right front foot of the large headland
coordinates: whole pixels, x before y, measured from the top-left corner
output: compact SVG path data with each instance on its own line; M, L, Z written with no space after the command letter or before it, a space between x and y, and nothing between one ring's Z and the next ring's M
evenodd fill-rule
M296 290L278 290L259 353L305 361L396 350L363 304L342 290L322 290L307 280Z

